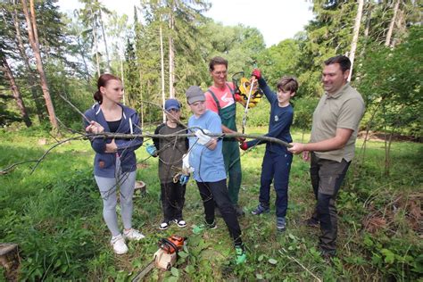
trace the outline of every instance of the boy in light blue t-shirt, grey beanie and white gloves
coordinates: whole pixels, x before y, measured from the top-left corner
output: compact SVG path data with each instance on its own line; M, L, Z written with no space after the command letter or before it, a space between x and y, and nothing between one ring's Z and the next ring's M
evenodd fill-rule
M214 221L214 203L220 209L229 234L236 249L236 264L245 262L245 247L241 239L241 228L234 206L230 202L226 185L226 170L223 162L222 141L209 137L207 133L221 134L221 120L217 113L205 107L205 95L200 87L187 89L187 104L193 115L188 120L188 130L195 133L189 139L189 167L194 169L193 175L200 195L203 199L205 224L195 228L199 233L203 228L216 228Z

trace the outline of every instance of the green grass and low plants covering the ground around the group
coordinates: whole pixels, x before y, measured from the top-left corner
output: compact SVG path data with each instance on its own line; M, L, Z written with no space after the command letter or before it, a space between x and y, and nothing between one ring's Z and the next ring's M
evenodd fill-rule
M150 130L151 131L151 130ZM266 128L247 128L264 133ZM0 168L35 160L54 145L38 132L0 133ZM41 139L47 144L42 145ZM294 140L302 134L296 132ZM308 136L304 140L308 140ZM153 259L158 239L170 234L187 236L187 249L173 271L153 270L147 280L415 280L421 276L423 256L421 216L423 145L402 142L392 148L391 175L384 174L384 143L369 142L357 156L337 200L338 256L329 265L319 257L318 229L305 228L314 206L309 164L294 158L289 187L287 230L278 234L274 206L269 214L253 216L258 203L264 146L242 155L243 185L240 219L247 247L247 263L234 265L234 249L223 220L217 229L196 236L193 224L203 220L203 203L195 182L187 186L184 208L187 228L172 225L158 230L162 220L157 160L137 151L137 178L147 184L147 194L134 199L133 225L145 240L129 244L129 253L117 256L102 217L102 200L92 176L94 153L87 141L71 141L35 163L23 163L0 176L0 238L20 246L20 279L130 280ZM364 159L364 161L363 161ZM274 192L271 201L274 200ZM372 220L385 223L375 225ZM372 225L373 224L373 225ZM420 224L420 228L419 228ZM416 228L416 226L418 228ZM307 270L304 270L307 269Z

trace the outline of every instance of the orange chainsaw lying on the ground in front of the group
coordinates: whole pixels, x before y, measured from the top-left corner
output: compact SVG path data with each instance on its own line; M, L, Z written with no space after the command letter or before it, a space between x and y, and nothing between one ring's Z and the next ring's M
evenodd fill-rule
M145 275L153 270L154 267L162 270L170 270L178 259L178 252L182 250L185 245L187 238L172 235L168 238L162 238L159 240L159 249L153 255L153 261L151 261L144 270L141 270L132 282L137 282L145 277Z

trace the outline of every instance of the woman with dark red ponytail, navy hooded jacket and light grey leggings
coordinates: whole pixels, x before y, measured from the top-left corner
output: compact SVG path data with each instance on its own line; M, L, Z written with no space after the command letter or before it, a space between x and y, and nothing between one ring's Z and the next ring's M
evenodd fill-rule
M122 82L112 74L102 74L97 81L94 99L97 102L87 112L84 128L88 134L102 132L140 134L137 112L120 104L123 97ZM88 121L89 120L89 121ZM95 182L103 198L104 221L112 233L114 253L128 252L125 240L140 240L145 236L132 228L132 197L137 177L137 158L134 153L143 144L143 138L90 138L95 151ZM118 226L116 213L119 191L123 233Z

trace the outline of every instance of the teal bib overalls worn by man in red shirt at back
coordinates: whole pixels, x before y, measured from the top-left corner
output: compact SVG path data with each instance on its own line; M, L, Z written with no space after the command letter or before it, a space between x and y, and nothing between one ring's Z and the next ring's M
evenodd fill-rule
M216 106L218 107L220 120L222 124L228 129L236 131L236 102L234 90L226 84L234 98L234 104L222 109L216 95L209 88L207 91L213 97ZM225 162L225 170L228 173L228 194L230 202L233 204L238 203L239 188L241 187L241 159L239 157L238 142L235 138L223 139L222 145L223 161Z

